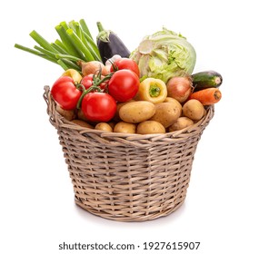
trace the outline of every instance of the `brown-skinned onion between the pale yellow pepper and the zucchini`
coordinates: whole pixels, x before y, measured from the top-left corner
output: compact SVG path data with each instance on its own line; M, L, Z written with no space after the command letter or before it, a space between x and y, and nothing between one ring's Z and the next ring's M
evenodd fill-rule
M172 97L179 103L184 103L194 87L192 80L188 76L184 77L173 77L166 83L167 96Z

